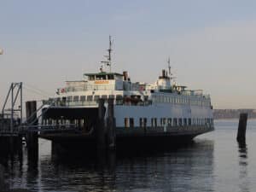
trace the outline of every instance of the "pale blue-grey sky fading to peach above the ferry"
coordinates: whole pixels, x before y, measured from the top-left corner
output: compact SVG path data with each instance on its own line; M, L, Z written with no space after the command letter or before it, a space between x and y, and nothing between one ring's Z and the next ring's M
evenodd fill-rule
M108 36L113 70L154 83L167 67L213 108L256 108L256 1L0 0L0 107L11 82L25 100L97 72Z

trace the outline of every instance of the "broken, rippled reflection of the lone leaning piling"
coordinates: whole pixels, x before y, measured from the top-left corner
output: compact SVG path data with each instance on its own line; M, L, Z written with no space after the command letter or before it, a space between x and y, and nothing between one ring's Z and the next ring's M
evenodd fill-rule
M241 142L238 143L238 154L239 154L239 188L242 192L249 192L248 189L248 179L247 179L247 143Z

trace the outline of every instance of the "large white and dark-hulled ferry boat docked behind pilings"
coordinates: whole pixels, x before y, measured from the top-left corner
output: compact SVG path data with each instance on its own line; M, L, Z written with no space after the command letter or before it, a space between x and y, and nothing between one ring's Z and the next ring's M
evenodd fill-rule
M96 145L99 101L105 101L102 129L106 132L111 99L116 146L184 143L214 130L210 96L173 83L170 59L155 83L147 84L132 82L127 72L112 72L111 53L109 38L108 56L98 73L84 73L81 80L67 81L54 98L44 102L44 125L73 125L77 132L46 132L41 137L66 147L74 143L86 143L83 146L89 148Z

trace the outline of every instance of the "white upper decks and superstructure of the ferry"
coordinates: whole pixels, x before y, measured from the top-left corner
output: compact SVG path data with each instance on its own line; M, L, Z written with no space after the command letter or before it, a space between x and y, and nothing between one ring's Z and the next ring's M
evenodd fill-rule
M202 90L186 90L185 86L172 84L171 72L162 70L154 84L133 83L127 72L111 72L111 41L108 49L110 72L84 73L79 81L67 81L66 86L56 91L55 108L97 108L99 98L114 99L116 129L124 127L213 127L210 96ZM106 103L107 105L107 103ZM57 111L55 113L58 113ZM86 124L83 115L62 121Z

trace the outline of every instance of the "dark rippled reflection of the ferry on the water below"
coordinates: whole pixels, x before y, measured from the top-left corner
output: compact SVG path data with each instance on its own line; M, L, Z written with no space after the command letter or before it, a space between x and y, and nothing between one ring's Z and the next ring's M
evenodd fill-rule
M187 146L133 154L109 153L101 157L52 154L42 144L38 161L23 157L8 168L13 188L33 191L212 191L212 140ZM8 163L10 165L10 163ZM200 184L196 184L200 183Z

